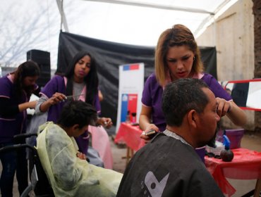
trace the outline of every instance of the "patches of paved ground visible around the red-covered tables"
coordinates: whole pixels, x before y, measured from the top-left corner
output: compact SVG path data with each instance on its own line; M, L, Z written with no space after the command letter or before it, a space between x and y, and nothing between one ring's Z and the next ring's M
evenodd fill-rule
M126 148L119 148L114 144L111 140L111 151L114 158L114 170L117 172L124 172L126 167ZM241 141L241 146L243 148L249 148L255 151L261 151L261 133L255 134L253 133L246 133L243 136L243 139ZM1 166L0 166L1 167ZM248 191L254 189L255 187L255 180L235 180L235 179L229 179L229 182L232 184L232 186L236 189L236 193L233 195L233 197L239 197L243 194L247 193ZM15 181L13 186L13 196L19 196L17 191L17 182Z

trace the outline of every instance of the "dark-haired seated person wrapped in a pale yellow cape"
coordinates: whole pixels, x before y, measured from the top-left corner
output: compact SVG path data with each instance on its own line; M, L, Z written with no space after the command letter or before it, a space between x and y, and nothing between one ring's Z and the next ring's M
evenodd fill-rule
M116 196L122 174L87 163L73 138L96 120L90 104L71 101L63 107L57 125L40 126L37 153L55 196Z

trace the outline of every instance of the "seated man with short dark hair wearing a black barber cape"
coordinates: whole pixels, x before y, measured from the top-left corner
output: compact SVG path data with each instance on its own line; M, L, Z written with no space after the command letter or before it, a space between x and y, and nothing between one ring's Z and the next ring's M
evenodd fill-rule
M223 196L195 148L214 136L217 101L201 80L166 85L162 110L166 130L130 160L117 196Z

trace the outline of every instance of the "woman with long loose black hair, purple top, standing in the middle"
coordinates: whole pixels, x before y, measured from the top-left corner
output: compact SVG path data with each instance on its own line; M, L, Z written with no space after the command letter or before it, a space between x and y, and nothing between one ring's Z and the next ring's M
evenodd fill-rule
M98 76L95 59L86 51L78 52L64 76L54 76L40 92L41 98L37 103L36 113L47 112L47 121L57 122L63 108L66 96L72 96L74 100L84 101L95 106L100 113L101 106L98 96ZM102 117L98 119L99 125L111 127L111 118ZM79 151L87 154L88 132L75 138ZM105 167L106 164L104 163ZM111 166L107 167L111 168Z

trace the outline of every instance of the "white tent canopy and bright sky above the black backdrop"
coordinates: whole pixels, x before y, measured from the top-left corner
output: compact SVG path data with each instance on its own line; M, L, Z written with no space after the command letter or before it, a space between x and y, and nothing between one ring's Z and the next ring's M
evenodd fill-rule
M1 0L0 64L16 66L26 60L27 51L38 49L51 53L51 68L55 69L60 30L110 42L155 46L162 31L181 23L197 37L235 2Z

